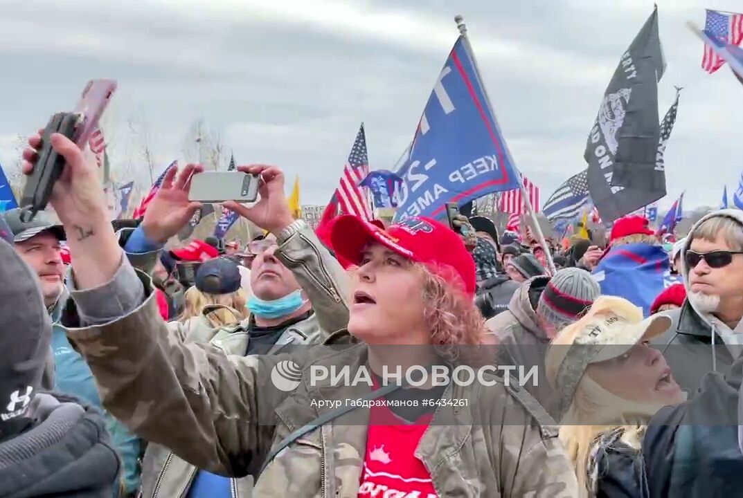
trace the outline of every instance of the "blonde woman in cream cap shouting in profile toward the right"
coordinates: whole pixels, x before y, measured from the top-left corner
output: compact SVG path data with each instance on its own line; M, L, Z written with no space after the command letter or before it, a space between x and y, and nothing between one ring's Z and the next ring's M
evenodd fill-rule
M546 371L561 400L559 439L573 462L580 496L639 496L637 455L649 419L684 402L663 355L648 345L670 325L623 298L598 298L551 344Z

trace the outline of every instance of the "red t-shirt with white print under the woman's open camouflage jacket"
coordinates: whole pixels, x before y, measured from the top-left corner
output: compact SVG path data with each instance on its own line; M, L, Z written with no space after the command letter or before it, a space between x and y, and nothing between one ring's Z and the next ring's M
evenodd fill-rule
M415 457L432 415L402 424L387 407L371 407L359 497L438 498L426 466Z

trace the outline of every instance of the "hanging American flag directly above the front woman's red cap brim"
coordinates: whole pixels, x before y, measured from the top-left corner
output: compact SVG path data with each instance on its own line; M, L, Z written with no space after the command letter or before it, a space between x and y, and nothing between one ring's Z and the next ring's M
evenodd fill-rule
M348 154L348 163L343 168L340 177L340 186L336 190L340 208L345 214L354 214L363 220L371 220L371 208L366 189L359 184L369 174L369 157L366 154L366 134L364 124L361 123L356 135L351 154Z

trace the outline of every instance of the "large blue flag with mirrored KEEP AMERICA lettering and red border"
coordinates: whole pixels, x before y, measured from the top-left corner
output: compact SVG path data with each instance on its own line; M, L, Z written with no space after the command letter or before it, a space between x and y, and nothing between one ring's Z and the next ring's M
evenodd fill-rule
M519 189L466 36L459 36L438 75L398 174L403 183L395 220L442 217L446 203L463 206L490 192Z

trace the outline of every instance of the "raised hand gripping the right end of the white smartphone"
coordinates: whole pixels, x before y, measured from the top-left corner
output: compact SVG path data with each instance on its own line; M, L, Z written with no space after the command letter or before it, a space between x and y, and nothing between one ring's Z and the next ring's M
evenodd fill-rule
M258 194L261 198L251 207L234 200L226 200L222 206L256 223L262 229L279 235L294 221L284 192L284 174L276 166L265 164L238 166L237 169L260 177Z

